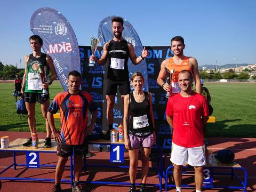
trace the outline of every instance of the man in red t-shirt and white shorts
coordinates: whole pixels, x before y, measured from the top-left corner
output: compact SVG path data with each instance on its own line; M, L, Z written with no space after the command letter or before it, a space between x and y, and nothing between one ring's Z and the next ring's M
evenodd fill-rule
M177 191L181 191L182 166L195 169L196 192L202 190L203 166L206 164L203 125L209 118L203 95L192 90L193 75L180 71L178 83L181 92L167 102L166 120L173 127L171 162Z

